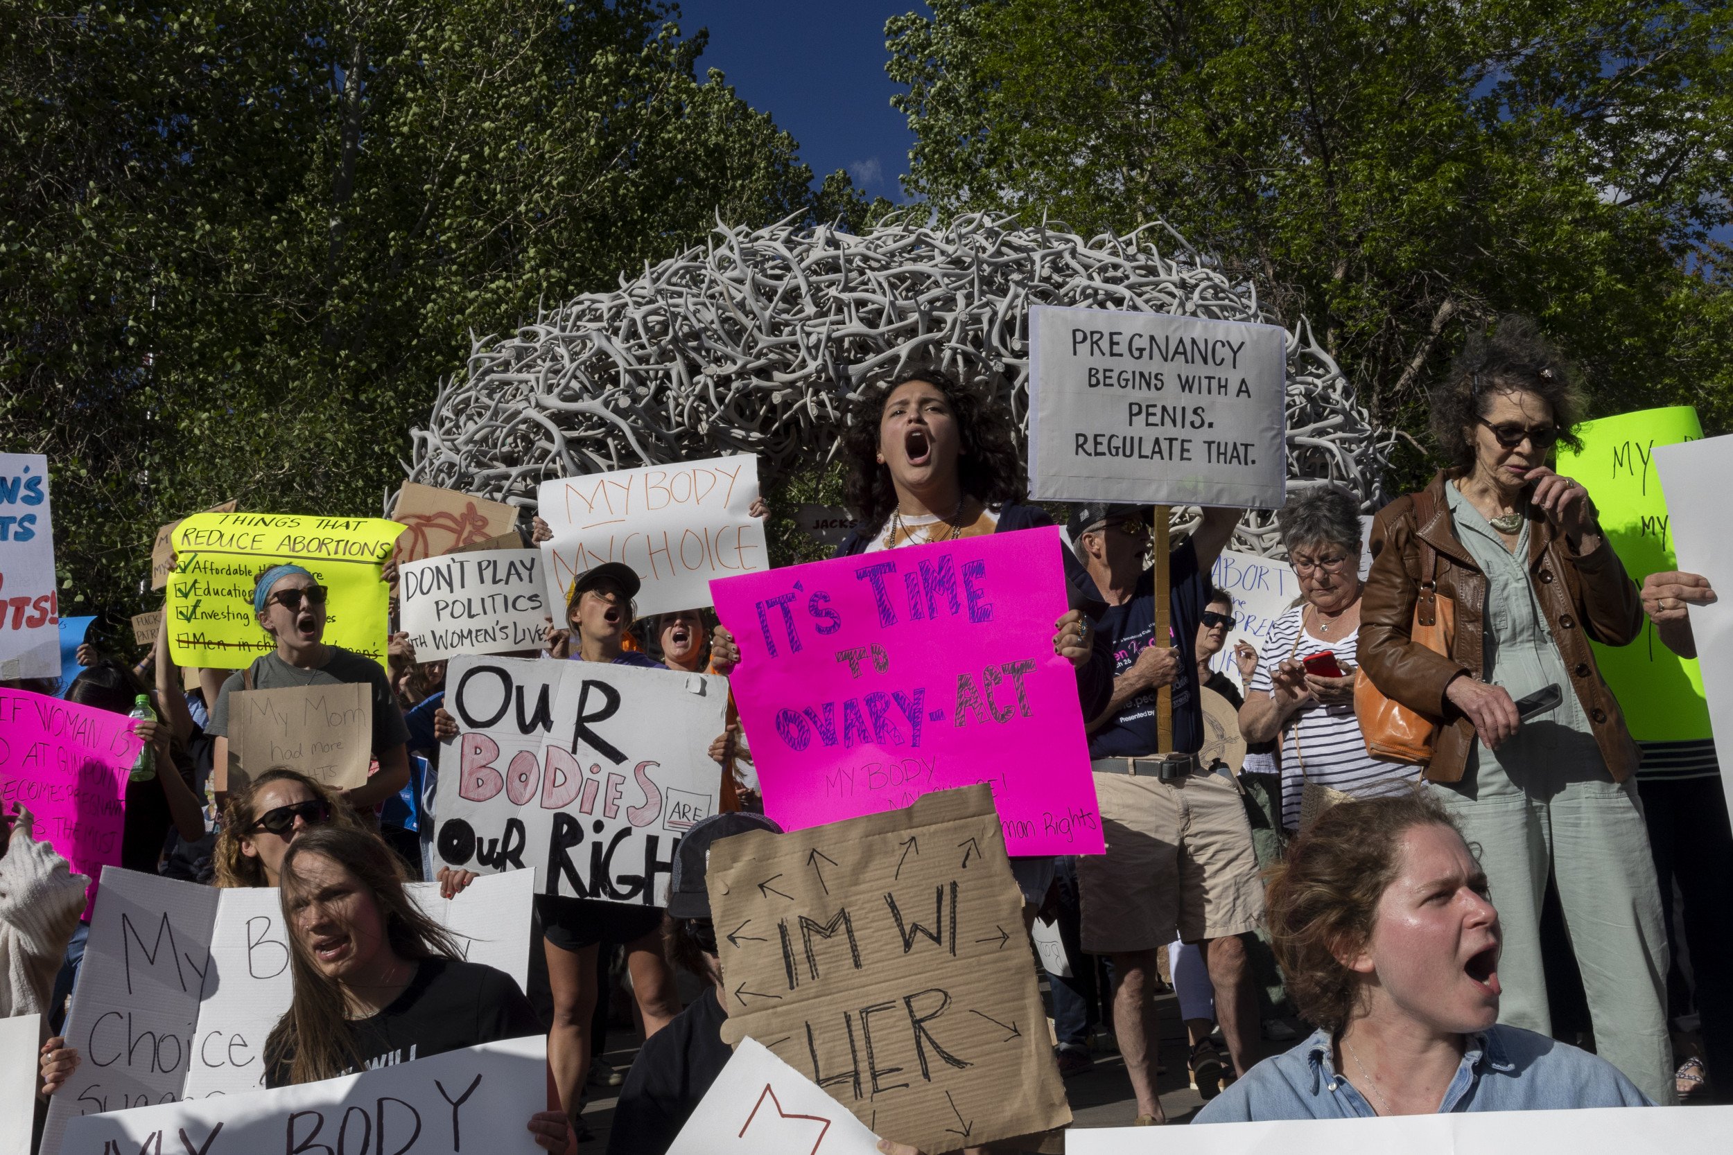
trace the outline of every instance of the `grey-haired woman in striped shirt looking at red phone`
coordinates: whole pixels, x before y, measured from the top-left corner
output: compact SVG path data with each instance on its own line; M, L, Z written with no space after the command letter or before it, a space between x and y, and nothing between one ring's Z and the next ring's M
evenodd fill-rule
M1279 514L1300 603L1270 629L1239 708L1248 743L1281 741L1282 826L1300 828L1307 795L1400 793L1414 771L1376 762L1353 713L1360 641L1360 506L1334 485L1308 488Z

